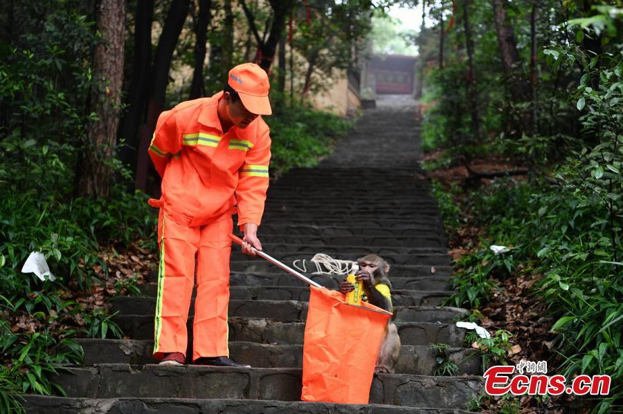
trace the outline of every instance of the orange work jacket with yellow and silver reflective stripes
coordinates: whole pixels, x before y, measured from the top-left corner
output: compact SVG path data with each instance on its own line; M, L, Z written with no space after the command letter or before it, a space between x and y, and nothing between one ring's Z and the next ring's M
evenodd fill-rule
M217 105L223 93L182 102L161 113L150 157L162 177L163 207L183 225L211 223L235 212L238 225L260 225L269 185L271 138L258 116L223 133Z

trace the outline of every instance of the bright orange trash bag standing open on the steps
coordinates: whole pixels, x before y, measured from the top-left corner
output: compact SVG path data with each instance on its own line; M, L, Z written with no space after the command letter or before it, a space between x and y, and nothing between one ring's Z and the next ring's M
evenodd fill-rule
M368 404L374 366L391 314L365 302L349 305L336 290L310 288L300 399Z

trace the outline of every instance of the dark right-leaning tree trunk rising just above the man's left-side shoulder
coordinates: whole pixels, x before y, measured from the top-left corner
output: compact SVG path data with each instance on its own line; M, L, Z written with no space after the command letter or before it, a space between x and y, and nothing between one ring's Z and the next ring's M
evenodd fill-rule
M167 13L165 24L156 47L152 66L152 98L157 106L163 108L165 93L169 83L171 59L177 46L179 34L188 15L190 0L173 0Z

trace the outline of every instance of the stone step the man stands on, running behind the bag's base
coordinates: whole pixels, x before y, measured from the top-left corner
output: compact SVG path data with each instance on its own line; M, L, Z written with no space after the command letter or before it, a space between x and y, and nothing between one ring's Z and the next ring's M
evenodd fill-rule
M51 379L67 397L177 397L217 399L300 399L299 368L222 368L100 364L65 368ZM482 388L482 377L432 377L379 374L372 380L370 403L458 408Z

